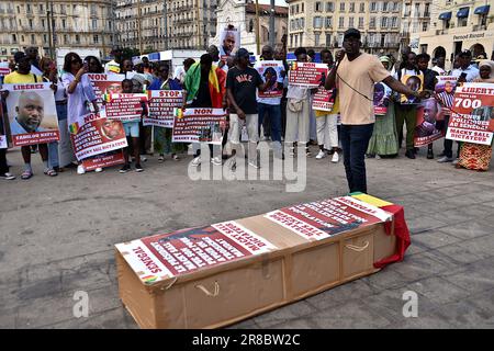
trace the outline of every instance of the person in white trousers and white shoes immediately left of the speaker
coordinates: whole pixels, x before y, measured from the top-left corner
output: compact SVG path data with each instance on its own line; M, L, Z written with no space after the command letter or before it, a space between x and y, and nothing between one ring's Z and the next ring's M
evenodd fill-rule
M330 68L333 66L333 55L328 49L321 52L321 59L323 64L327 64ZM324 86L324 82L323 82ZM335 92L335 89L333 90ZM316 159L326 157L325 149L333 152L332 162L339 161L338 155L338 113L339 100L336 97L332 111L314 110L316 116L317 144L319 145L319 152Z

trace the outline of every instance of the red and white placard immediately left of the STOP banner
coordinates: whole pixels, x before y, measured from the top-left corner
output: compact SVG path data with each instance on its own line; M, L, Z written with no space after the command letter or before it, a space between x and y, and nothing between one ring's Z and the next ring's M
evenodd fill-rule
M103 109L101 117L122 122L138 122L143 115L147 94L144 93L116 93L103 95Z

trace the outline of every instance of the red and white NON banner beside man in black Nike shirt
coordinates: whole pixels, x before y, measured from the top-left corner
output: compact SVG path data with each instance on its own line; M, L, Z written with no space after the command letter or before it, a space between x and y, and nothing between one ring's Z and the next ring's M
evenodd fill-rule
M207 143L221 145L226 128L223 109L176 109L173 143Z

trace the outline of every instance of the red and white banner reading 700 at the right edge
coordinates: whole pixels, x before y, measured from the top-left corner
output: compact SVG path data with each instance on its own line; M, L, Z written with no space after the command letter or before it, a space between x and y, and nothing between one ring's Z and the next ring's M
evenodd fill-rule
M448 139L491 145L494 132L494 83L464 83L454 92Z

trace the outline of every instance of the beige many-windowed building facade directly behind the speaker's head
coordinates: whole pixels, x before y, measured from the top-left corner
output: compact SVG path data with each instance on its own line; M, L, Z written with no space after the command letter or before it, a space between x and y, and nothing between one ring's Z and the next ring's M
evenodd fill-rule
M332 52L341 47L349 27L362 33L363 49L394 54L400 47L403 1L287 0L289 50L299 46Z

